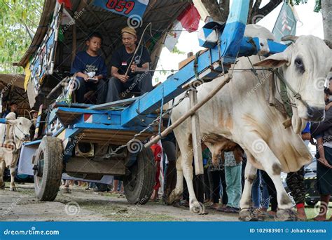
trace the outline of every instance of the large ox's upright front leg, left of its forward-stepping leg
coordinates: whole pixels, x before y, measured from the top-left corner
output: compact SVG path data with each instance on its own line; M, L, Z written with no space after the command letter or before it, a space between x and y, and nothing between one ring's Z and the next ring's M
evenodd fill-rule
M251 159L253 156L251 154L247 153L247 165L244 171L244 188L241 196L240 201L240 215L239 220L242 221L256 221L258 220L258 215L253 211L251 208L251 188L252 183L256 179L257 176L257 168L255 168L249 159Z

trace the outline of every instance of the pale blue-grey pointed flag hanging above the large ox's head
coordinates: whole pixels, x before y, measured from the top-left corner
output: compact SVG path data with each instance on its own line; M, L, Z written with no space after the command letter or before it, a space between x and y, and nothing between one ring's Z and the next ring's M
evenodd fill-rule
M296 17L289 4L284 2L282 10L279 13L272 34L275 35L275 41L281 41L283 36L296 34Z

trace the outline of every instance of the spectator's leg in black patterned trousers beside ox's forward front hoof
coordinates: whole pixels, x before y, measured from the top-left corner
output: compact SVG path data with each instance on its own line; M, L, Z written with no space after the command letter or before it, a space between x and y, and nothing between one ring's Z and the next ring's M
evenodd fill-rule
M307 215L305 215L304 167L295 173L288 173L286 183L296 203L298 218L307 219Z

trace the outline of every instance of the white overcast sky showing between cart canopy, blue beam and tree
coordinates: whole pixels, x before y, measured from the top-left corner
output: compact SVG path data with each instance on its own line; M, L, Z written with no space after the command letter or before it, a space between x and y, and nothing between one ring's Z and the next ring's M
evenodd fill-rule
M269 0L263 0L261 6L267 4L268 1ZM321 13L314 13L314 2L315 0L308 0L307 4L300 4L299 6L295 6L296 12L298 13L298 17L300 20L296 27L297 36L312 34L314 36L320 37L321 39L324 37ZM263 27L268 28L272 32L281 8L282 4L280 4L271 13L265 16L265 18L259 21L258 25L262 25ZM204 22L201 21L200 28L203 25ZM170 53L167 48L163 48L160 55L160 61L158 62L157 70L177 70L179 68L179 62L186 59L187 53L193 52L195 54L196 52L203 49L198 45L197 34L197 32L181 33L181 36L177 43L177 48L179 48L179 50L183 51L185 54ZM155 84L156 81L165 81L167 76L170 74L172 73L167 72L167 75L162 75L161 72L155 72L155 75L153 76L153 84Z

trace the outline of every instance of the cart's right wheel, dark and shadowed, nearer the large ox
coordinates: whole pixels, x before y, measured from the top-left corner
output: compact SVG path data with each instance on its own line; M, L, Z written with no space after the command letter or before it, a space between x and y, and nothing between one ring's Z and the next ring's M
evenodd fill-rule
M143 149L123 179L125 197L130 204L146 204L155 184L155 161L151 149Z

